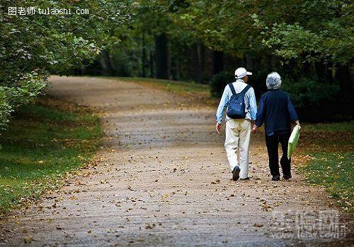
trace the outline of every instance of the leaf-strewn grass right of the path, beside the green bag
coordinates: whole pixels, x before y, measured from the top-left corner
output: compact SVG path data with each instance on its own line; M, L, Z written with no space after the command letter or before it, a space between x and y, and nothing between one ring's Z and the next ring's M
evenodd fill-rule
M354 212L353 123L308 124L301 147L302 152L311 157L302 167L307 180L324 186L337 204L351 213Z

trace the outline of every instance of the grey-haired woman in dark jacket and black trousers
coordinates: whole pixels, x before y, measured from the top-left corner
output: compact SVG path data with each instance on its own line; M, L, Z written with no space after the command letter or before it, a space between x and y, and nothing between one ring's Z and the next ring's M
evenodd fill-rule
M282 80L278 73L273 72L266 80L268 92L265 92L259 102L256 123L252 132L256 133L263 121L265 123L265 143L267 145L270 174L273 181L280 180L278 145L282 146L282 174L285 180L291 179L290 159L287 159L287 143L291 133L291 123L299 125L290 96L280 90ZM299 126L300 127L300 126Z

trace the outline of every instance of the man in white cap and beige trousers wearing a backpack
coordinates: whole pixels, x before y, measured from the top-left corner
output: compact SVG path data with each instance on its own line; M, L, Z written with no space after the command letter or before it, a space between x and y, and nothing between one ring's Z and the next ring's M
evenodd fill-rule
M217 108L217 133L221 131L222 116L227 108L225 150L232 171L232 179L249 179L249 140L251 137L251 121L256 119L257 104L254 90L247 84L251 72L245 68L237 68L236 81L229 83L222 94ZM239 150L239 162L237 161Z

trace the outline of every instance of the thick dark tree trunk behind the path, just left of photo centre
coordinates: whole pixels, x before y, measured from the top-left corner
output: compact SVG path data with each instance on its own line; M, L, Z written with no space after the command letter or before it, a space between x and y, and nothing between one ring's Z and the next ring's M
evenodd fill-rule
M169 51L167 49L167 37L165 33L155 36L156 53L156 78L169 78Z

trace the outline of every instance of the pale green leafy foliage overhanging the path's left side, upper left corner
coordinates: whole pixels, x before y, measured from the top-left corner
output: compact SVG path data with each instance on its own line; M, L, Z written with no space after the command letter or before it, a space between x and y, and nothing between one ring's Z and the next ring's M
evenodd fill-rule
M8 7L66 8L67 15L8 15ZM0 5L0 128L9 114L33 102L50 72L65 73L93 61L102 49L119 42L110 35L120 25L124 1L3 0ZM88 9L78 15L76 9Z

